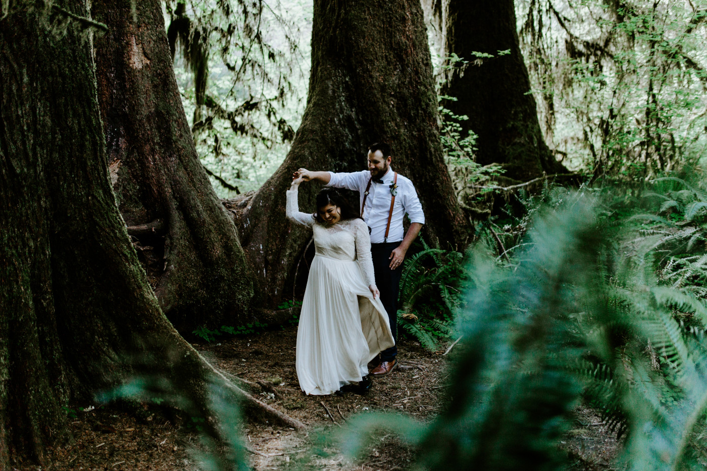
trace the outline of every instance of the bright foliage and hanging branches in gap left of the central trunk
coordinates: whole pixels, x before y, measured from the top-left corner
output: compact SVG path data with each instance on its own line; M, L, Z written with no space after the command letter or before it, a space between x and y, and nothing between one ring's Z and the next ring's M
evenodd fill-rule
M255 190L284 159L304 110L311 5L166 2L192 133L223 196Z

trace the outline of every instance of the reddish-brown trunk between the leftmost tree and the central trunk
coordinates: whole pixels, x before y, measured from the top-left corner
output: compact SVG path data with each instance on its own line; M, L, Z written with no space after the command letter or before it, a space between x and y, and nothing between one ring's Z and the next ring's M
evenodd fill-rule
M252 279L194 148L160 1L98 1L92 14L109 28L95 40L107 160L160 307L182 332L234 325Z

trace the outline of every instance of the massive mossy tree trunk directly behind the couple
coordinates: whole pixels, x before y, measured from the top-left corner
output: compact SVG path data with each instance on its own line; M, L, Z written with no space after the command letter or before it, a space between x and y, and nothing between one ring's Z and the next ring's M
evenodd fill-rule
M269 303L292 296L293 272L310 233L285 219L285 190L299 167L366 169L373 141L392 146L392 167L418 190L431 243L462 248L468 222L443 159L437 99L419 0L315 0L307 108L291 151L240 217L243 248ZM315 211L319 185L300 187ZM356 202L358 204L358 202Z

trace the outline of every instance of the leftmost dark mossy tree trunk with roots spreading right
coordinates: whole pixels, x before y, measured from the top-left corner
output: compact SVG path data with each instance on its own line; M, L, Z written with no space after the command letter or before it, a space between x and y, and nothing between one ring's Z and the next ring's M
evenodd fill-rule
M49 30L86 4L38 5L14 2L0 21L0 469L41 461L67 437L62 406L136 373L197 405L207 380L247 398L170 325L129 241L78 33L88 21Z

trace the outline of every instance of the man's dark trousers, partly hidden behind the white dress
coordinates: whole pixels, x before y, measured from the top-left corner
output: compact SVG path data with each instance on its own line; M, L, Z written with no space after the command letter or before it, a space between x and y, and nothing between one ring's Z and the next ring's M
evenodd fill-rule
M380 352L381 361L391 361L397 355L397 297L400 291L400 276L402 275L402 264L392 270L390 269L390 252L392 252L399 242L389 242L371 244L370 253L373 256L373 272L375 272L375 286L380 291L380 302L385 308L385 312L390 320L390 332L395 339L395 345Z

